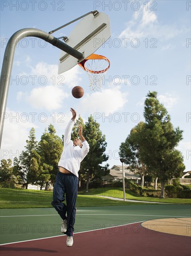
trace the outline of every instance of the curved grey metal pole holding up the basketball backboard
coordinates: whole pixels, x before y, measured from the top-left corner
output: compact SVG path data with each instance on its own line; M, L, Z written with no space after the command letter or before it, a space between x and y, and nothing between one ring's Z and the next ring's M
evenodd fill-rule
M12 35L12 37L9 39L6 46L1 75L0 75L0 146L1 146L1 139L3 134L6 101L7 101L8 90L9 90L10 75L11 75L12 66L13 66L14 51L19 40L27 36L34 36L34 37L41 38L47 41L48 43L54 45L55 47L63 50L64 52L72 55L76 59L78 60L83 59L82 53L76 51L69 45L58 40L56 37L46 33L43 30L39 30L37 28L24 28L24 29L20 29L19 31L17 31Z

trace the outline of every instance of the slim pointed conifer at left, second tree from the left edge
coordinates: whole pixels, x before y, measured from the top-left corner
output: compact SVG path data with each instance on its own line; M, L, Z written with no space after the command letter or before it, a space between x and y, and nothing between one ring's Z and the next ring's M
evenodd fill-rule
M25 150L19 155L19 159L14 158L13 172L19 176L19 181L28 188L28 184L34 184L38 177L38 164L40 155L37 153L38 141L36 141L35 129L31 128L26 140Z

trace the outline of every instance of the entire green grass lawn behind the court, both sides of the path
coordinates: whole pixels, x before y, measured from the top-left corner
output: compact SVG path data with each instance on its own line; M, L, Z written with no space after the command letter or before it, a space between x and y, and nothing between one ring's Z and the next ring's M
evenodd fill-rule
M94 195L94 196L92 196ZM112 205L132 205L132 204L146 204L144 202L124 202L99 197L97 195L111 196L116 198L123 198L122 188L99 188L89 189L86 193L78 191L77 207L83 206L112 206ZM148 202L166 202L166 203L181 203L191 204L191 199L184 198L156 198L143 197L133 194L126 189L126 199L148 201ZM52 192L32 189L4 189L0 188L0 208L46 208L52 207Z

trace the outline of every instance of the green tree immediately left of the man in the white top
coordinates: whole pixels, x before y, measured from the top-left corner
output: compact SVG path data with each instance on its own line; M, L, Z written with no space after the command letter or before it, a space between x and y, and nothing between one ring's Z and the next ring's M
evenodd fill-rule
M63 143L62 139L56 135L54 126L50 124L48 131L45 129L38 144L38 154L41 156L38 183L41 188L45 184L45 190L47 190L49 182L55 182L58 171L57 164L63 150Z

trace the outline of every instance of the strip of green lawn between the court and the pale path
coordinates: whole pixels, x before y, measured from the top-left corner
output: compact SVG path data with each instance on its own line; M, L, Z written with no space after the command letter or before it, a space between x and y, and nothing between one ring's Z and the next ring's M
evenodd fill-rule
M0 208L46 208L52 207L52 192L32 189L4 189L0 188ZM112 206L112 205L132 205L139 202L123 202L110 200L102 197L92 197L91 195L78 195L76 206ZM141 203L146 204L146 203Z

